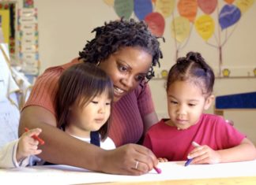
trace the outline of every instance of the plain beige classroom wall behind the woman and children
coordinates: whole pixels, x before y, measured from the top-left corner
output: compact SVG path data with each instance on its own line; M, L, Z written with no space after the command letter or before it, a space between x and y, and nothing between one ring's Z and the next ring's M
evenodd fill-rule
M78 51L85 46L86 40L93 38L92 29L100 26L104 21L115 20L117 15L111 6L103 0L36 0L39 24L39 50L41 68L40 73L52 65L61 65L77 57ZM223 2L223 1L221 1ZM134 15L132 16L134 17ZM223 61L226 67L233 68L235 76L252 75L248 70L254 65L256 68L256 3L239 20L232 36L223 48ZM161 60L161 69L169 69L175 62L175 44L171 38L170 22L167 19L164 31L165 43L161 42L164 59ZM189 43L180 50L179 56L188 51L199 51L212 67L217 70L218 50L206 45L203 39L192 31ZM248 73L249 72L249 73ZM160 69L156 69L156 75ZM246 74L246 75L245 75ZM152 97L159 117L168 117L165 80L150 81ZM256 91L256 78L216 79L214 94L236 94ZM209 109L213 113L213 107ZM227 119L235 122L239 128L256 143L256 114L254 111L226 112Z

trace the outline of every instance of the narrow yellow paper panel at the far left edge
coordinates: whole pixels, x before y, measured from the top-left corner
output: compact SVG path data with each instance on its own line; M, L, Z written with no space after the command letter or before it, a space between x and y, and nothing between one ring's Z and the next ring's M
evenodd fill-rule
M0 9L4 43L9 43L9 9Z

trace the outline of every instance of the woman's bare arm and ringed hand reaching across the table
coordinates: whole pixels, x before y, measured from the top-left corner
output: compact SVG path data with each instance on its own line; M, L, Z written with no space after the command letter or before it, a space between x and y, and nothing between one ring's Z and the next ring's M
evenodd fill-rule
M103 150L79 139L75 139L55 127L54 115L40 106L30 105L23 109L19 135L24 128L41 128L40 137L45 141L39 155L54 164L73 165L98 172L126 175L141 175L157 165L151 150L144 146L129 144L115 150ZM135 169L136 161L139 166Z

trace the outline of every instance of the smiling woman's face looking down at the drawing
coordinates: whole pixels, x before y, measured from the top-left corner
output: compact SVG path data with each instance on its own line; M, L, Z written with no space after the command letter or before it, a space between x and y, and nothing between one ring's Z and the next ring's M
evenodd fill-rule
M145 79L152 55L139 47L123 47L100 62L114 83L114 102L133 91Z

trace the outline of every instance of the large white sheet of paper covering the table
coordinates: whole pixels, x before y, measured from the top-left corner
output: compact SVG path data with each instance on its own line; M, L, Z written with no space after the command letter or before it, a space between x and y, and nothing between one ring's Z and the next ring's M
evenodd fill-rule
M154 170L142 176L121 176L91 172L66 165L34 166L0 170L2 180L26 184L76 184L106 182L145 182L171 179L209 179L237 176L256 176L256 161L225 163L217 165L188 165L185 161L160 163L161 174ZM28 180L29 179L29 180ZM40 180L39 180L40 179ZM8 180L8 181L7 181ZM4 181L3 181L4 182Z

